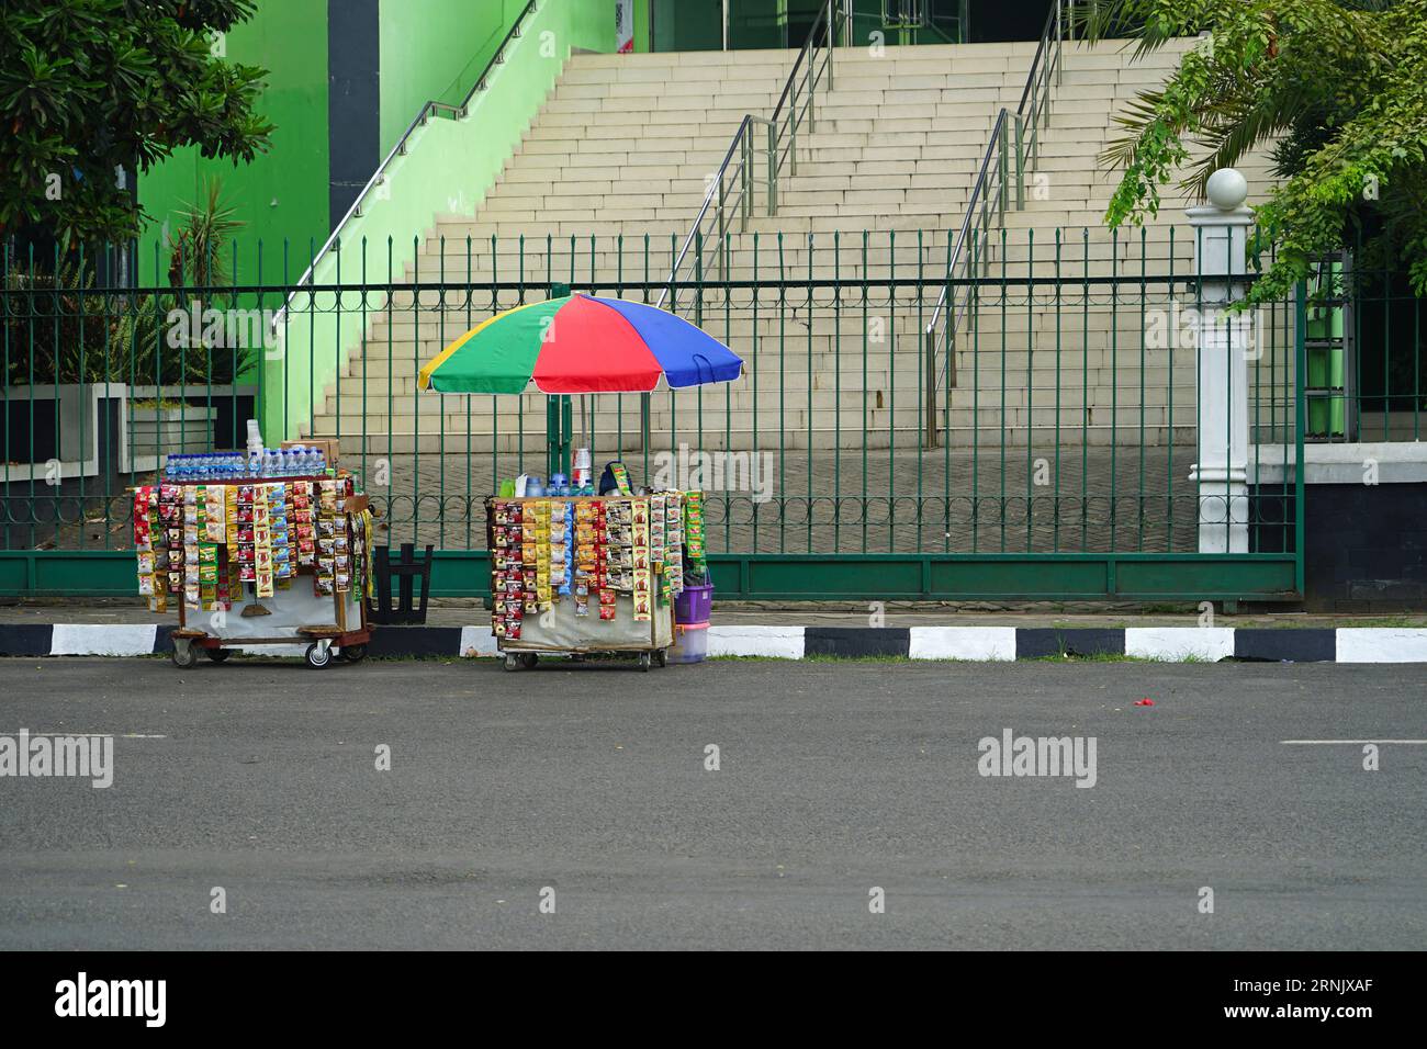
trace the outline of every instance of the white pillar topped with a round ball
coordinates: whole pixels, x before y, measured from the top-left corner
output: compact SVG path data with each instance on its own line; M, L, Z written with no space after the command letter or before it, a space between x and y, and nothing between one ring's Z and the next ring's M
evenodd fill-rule
M1186 211L1194 237L1199 310L1196 391L1199 430L1189 477L1199 495L1199 552L1249 551L1249 314L1227 314L1243 298L1249 186L1232 167L1209 178L1210 203Z

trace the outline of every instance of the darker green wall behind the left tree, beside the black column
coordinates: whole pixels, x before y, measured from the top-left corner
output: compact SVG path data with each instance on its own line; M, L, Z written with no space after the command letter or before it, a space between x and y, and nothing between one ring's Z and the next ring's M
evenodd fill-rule
M151 223L138 245L140 284L166 283L163 224L177 223L186 203L203 198L204 180L223 181L224 200L245 225L235 238L240 283L257 281L257 245L263 241L263 280L281 280L283 240L290 243L295 280L307 244L327 240L327 1L264 3L251 20L224 39L225 57L268 70L258 101L274 124L273 146L251 164L204 160L181 150L138 176L138 203ZM154 247L160 247L158 280Z

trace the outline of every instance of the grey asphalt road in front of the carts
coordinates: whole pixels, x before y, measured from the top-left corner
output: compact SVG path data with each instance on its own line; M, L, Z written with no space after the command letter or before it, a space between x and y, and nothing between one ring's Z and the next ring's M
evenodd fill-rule
M1427 738L1423 667L9 659L0 682L0 735L116 734L108 789L0 778L0 948L1427 942L1427 746L1367 772L1360 745L1281 742ZM1006 728L1095 736L1095 786L979 775Z

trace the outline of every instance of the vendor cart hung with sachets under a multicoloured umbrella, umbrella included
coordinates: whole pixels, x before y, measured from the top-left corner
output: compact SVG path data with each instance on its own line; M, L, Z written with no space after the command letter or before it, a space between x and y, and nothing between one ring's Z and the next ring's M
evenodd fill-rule
M487 500L491 629L507 669L552 652L634 652L641 669L666 662L685 559L706 569L702 495L635 492L615 462L619 484L596 497L591 478L571 471L569 398L648 397L661 381L731 382L742 370L732 350L682 317L564 285L482 321L421 370L422 390L519 394L534 384L551 395L547 472L574 485Z

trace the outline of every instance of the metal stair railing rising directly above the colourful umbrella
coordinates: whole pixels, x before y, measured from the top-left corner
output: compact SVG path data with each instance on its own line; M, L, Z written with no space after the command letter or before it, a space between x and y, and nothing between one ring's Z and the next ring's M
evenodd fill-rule
M765 120L746 114L739 123L723 154L723 163L709 180L704 203L674 260L668 285L659 294L659 307L671 300L674 288L681 281L699 280L708 271L709 260L705 257L705 250L709 244L715 250L714 261L719 275L726 275L729 218L736 217L739 233L748 228L748 218L756 206L755 164L759 153L766 161L763 191L766 214L778 214L778 177L783 167L788 168L788 174L798 174L798 133L802 130L806 134L815 127L813 97L819 84L826 81L826 90L832 90L832 51L838 20L838 6L833 0L826 0L793 60L793 69L783 84L773 116ZM758 133L755 128L766 133L763 143L755 141ZM678 310L676 298L671 303L671 308Z

